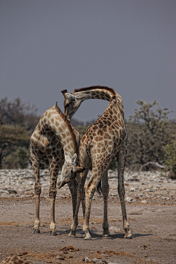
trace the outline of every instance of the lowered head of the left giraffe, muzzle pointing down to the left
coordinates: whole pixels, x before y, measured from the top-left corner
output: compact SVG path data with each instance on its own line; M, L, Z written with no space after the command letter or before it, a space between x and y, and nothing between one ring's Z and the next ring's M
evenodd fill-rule
M58 183L58 188L60 189L66 183L70 182L73 178L76 178L77 173L85 171L85 168L79 167L77 163L76 153L71 158L71 161L66 160L62 166L61 180Z

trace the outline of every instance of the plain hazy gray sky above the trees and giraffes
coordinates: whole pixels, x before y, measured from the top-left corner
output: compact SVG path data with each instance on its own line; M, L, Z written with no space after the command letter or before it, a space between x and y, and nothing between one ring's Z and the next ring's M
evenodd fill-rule
M63 110L62 89L104 85L127 118L138 99L175 111L175 13L175 0L1 0L0 98L20 96L41 115L56 101ZM74 118L107 105L87 100Z

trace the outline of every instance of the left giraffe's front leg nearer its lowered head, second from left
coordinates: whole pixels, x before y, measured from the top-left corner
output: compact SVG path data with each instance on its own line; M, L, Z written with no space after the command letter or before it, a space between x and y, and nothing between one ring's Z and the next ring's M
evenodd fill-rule
M55 213L55 197L57 194L56 183L57 176L59 173L58 163L53 159L50 162L50 187L49 187L49 198L51 201L51 223L49 227L49 235L57 235L55 232L55 221L54 221L54 213Z

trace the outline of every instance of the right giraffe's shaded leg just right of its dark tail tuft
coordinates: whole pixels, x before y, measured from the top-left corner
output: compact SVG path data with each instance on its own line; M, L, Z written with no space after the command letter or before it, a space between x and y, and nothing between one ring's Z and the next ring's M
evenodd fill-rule
M103 234L102 237L110 237L109 224L108 224L108 194L109 194L109 183L108 183L108 169L103 174L102 177L102 194L104 201L104 218L103 218Z

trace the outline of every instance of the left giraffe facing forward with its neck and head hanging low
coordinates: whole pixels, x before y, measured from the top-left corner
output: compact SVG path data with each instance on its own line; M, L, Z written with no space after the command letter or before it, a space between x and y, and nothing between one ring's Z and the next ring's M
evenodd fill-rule
M35 175L34 189L36 194L36 217L33 234L40 233L40 160L49 163L50 166L49 197L51 201L51 223L49 235L57 234L55 232L54 210L57 193L56 182L59 168L62 169L62 186L67 183L71 192L74 217L77 202L77 182L79 182L78 173L84 170L84 168L78 166L80 139L81 135L76 128L67 121L62 111L57 106L57 103L41 116L38 125L31 135L30 157ZM63 176L64 170L67 171L68 177ZM59 185L61 188L62 186L60 183ZM82 208L84 215L84 197L82 199Z

